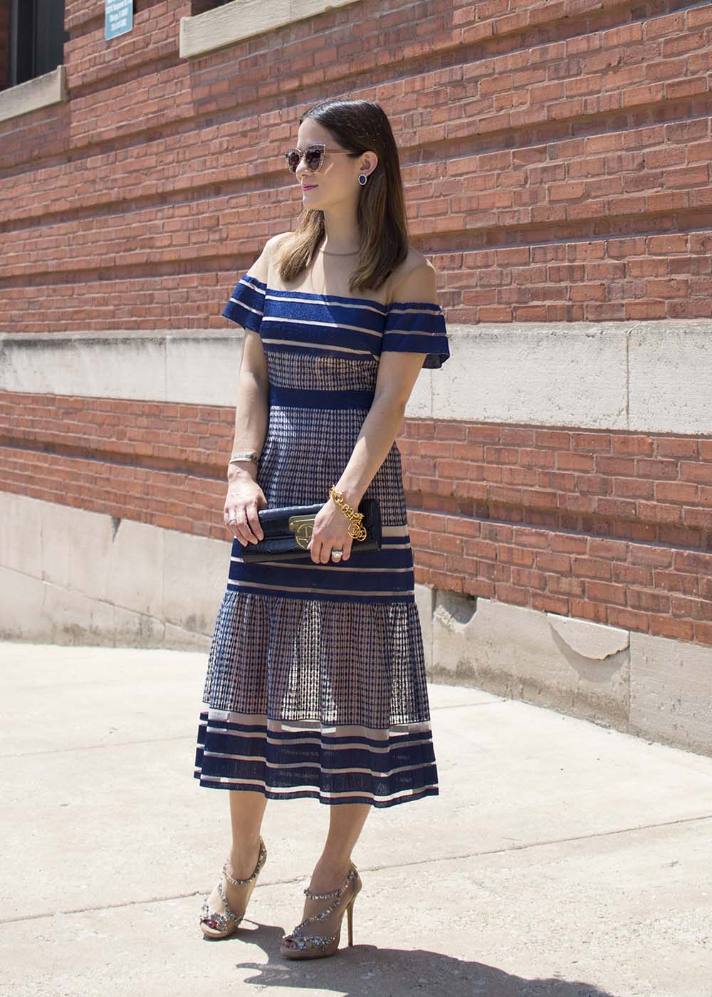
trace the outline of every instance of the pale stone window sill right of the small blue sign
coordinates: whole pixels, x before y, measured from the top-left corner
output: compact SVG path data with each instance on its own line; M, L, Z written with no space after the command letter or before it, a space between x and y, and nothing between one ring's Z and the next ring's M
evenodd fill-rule
M356 0L232 0L215 10L180 18L178 54L181 59L205 55L262 35L294 21L315 17L335 7L348 7Z

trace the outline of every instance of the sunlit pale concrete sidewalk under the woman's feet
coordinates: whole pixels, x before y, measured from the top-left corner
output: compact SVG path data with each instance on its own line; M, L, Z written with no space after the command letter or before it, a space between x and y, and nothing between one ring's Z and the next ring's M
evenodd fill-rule
M198 927L229 842L192 778L205 655L0 658L3 997L712 997L710 758L431 685L440 796L374 809L354 947L290 962L314 800L268 804L236 935Z

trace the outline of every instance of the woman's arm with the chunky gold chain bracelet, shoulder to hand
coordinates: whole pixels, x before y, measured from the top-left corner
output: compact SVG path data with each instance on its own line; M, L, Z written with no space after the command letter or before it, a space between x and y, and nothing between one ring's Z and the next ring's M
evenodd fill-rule
M429 262L414 267L393 288L393 301L438 304L435 268ZM376 388L369 413L363 421L348 464L338 482L344 502L358 508L376 472L386 460L398 436L408 399L423 368L425 353L386 350L378 364ZM308 548L315 563L326 564L332 547L343 550L342 561L351 553L349 520L333 498L329 498L314 520ZM357 541L358 542L358 541Z

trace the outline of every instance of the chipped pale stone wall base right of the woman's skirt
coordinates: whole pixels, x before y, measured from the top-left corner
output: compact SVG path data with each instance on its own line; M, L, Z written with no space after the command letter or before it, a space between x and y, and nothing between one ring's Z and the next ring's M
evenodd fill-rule
M458 592L431 597L429 681L712 756L712 647Z

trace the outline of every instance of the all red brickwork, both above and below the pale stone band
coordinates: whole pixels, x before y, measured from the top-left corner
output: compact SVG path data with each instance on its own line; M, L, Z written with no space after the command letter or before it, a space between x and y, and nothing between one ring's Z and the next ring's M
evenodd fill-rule
M203 7L142 0L106 42L103 0L67 0L70 102L0 123L0 329L224 327L300 210L299 115L348 86L391 119L449 323L710 316L712 2L364 0L181 60ZM224 536L229 410L2 402L0 488ZM399 444L418 581L712 643L709 438Z

